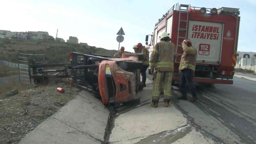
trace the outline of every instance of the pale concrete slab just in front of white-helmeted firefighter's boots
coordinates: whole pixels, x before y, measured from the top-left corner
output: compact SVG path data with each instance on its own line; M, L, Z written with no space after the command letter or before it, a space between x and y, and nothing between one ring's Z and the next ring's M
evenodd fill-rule
M147 104L118 116L109 141L143 138L187 124L186 118L173 105L167 108L163 102L158 105L152 108Z

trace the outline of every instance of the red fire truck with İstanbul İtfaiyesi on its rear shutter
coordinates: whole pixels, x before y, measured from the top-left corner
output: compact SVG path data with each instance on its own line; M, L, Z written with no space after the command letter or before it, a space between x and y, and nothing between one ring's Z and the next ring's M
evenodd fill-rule
M160 36L167 32L175 44L174 81L179 81L179 65L183 54L181 43L190 39L197 50L193 81L208 84L233 84L239 31L239 9L192 7L175 4L155 24L153 35L146 36L151 55ZM148 44L148 38L151 42ZM150 70L149 70L150 74Z

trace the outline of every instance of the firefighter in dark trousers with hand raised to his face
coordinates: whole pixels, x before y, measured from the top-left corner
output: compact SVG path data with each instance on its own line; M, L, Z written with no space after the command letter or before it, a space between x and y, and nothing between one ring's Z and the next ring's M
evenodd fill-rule
M196 68L196 49L192 46L191 40L187 39L182 42L183 55L180 60L179 72L180 72L180 92L182 96L178 100L188 100L186 83L192 92L192 100L190 102L196 102L196 87L193 83L193 76Z

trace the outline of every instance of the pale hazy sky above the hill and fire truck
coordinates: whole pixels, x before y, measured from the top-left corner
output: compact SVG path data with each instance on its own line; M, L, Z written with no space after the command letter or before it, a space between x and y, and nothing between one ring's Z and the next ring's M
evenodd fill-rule
M191 4L195 7L240 8L238 51L256 52L254 19L256 1L205 0L0 0L0 29L10 31L47 31L65 41L76 36L78 42L109 50L117 50L116 33L124 29L125 51L133 52L133 45L145 44L145 36L152 34L155 23L172 5Z

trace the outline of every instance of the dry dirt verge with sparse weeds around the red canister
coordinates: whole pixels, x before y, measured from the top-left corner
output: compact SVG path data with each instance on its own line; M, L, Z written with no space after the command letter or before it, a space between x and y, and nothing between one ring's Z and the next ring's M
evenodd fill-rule
M65 92L57 92L57 87L64 88ZM78 92L76 87L71 89L68 81L61 80L0 98L0 144L18 143Z

